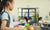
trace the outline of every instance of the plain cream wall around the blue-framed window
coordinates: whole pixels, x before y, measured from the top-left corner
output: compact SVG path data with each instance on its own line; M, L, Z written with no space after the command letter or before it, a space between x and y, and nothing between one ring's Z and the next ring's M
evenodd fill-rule
M50 12L50 0L14 0L13 15L15 19L18 20L18 8L38 8L39 16L45 19L45 16L49 16Z

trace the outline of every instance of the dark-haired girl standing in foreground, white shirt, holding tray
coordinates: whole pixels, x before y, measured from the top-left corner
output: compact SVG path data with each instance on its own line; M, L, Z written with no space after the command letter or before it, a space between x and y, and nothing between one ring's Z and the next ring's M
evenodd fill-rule
M1 30L17 30L13 28L13 19L9 14L9 11L13 9L13 4L14 0L0 0Z

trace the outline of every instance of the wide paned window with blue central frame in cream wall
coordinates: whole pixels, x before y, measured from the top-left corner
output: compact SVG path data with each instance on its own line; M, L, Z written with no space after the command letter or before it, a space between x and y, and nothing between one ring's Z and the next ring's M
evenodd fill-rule
M34 20L35 14L38 13L36 8L19 8L19 18L31 17Z

